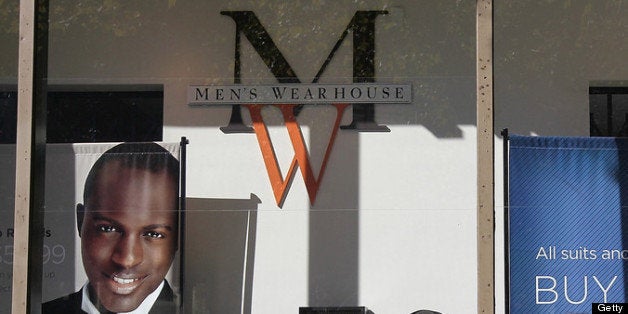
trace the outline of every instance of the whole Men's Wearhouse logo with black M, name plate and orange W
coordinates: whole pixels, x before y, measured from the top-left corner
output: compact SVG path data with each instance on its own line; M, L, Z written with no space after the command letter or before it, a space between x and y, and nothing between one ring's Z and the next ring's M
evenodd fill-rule
M375 122L375 104L399 104L412 102L412 88L409 84L382 84L375 82L375 25L387 11L357 11L344 29L340 38L331 48L310 83L303 83L295 74L279 48L252 11L222 11L236 24L234 85L189 86L188 103L191 106L232 105L229 125L221 128L225 133L254 132L262 152L275 201L282 206L297 169L300 170L308 192L310 203L314 204L316 194L323 180L327 161L331 155L339 129L358 131L389 131ZM348 84L319 84L336 51L349 34L353 39L353 81ZM248 40L266 67L277 79L274 85L242 85L241 82L241 42L242 35ZM308 150L297 116L304 105L330 105L336 108L336 117L331 135L325 148L318 175L312 169ZM262 118L262 108L277 107L285 122L294 156L286 175L282 175L268 128ZM353 122L341 126L345 109L353 106ZM253 128L243 125L241 108L248 109Z

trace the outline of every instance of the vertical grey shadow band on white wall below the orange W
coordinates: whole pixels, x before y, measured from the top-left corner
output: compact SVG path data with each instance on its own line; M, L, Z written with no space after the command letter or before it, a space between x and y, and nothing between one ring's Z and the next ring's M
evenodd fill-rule
M326 144L319 143L328 137L324 130L312 126L312 132L312 147ZM338 137L316 202L309 211L307 306L368 307L368 304L358 304L359 150L357 132Z

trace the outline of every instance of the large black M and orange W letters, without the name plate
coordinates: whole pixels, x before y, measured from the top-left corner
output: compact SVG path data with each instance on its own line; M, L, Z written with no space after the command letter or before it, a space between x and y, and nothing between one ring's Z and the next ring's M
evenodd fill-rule
M386 11L357 11L349 25L340 35L340 39L336 42L332 48L327 59L319 69L318 73L314 77L312 83L317 83L320 77L325 72L325 69L331 62L334 54L340 48L342 42L347 37L347 34L351 31L353 33L353 82L374 82L375 81L375 19L378 15L387 14ZM236 22L236 42L235 42L235 65L234 65L234 81L235 83L241 82L241 70L240 70L240 42L241 34L244 34L246 39L251 43L255 51L262 58L268 69L275 76L280 83L300 83L301 80L296 76L295 71L292 69L286 58L283 56L279 48L275 45L272 38L262 26L261 22L252 11L222 11L221 14L231 17ZM288 135L290 142L294 149L295 155L292 159L290 168L284 178L279 170L277 156L272 146L268 129L261 115L262 105L247 105L253 121L253 129L257 136L260 148L262 150L262 156L268 171L275 200L278 206L282 206L285 200L288 188L294 175L296 174L297 166L301 169L301 174L305 181L305 186L308 191L310 203L314 204L316 200L316 193L325 173L327 166L327 160L331 153L331 149L334 145L338 129L340 128L340 121L342 115L349 104L335 104L336 107L336 120L334 123L334 129L332 130L331 137L327 144L324 159L318 173L318 178L312 171L311 163L308 158L307 148L301 133L301 128L297 123L296 116L299 114L301 106L294 105L275 105L278 107L283 115L286 128L288 129ZM347 128L355 128L357 124L374 124L374 105L366 104L362 106L354 106L353 117L354 122ZM358 120L356 122L356 119ZM239 106L234 106L231 116L231 122L238 123L242 121L240 116ZM345 128L343 126L343 128Z

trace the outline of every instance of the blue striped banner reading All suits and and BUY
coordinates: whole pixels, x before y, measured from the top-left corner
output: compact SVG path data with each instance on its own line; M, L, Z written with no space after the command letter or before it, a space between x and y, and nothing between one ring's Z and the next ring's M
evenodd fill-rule
M628 139L511 136L511 313L626 302Z

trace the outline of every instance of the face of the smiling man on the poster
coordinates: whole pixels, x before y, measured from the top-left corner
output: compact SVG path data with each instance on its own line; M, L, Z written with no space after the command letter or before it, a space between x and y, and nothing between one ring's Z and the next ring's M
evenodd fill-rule
M94 304L128 312L162 282L177 248L175 191L165 171L102 169L80 232Z

